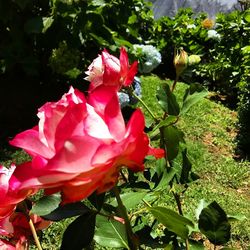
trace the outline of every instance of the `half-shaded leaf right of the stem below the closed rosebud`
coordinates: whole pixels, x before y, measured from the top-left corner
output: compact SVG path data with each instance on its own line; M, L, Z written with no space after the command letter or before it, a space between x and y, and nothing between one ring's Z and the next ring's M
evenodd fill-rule
M186 113L194 104L208 95L208 91L198 83L190 84L183 97L183 104L180 114Z

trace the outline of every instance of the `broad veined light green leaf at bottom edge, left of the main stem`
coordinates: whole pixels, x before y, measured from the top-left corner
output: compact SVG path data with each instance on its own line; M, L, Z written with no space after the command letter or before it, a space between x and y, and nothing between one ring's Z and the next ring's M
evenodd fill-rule
M129 249L125 225L104 216L96 217L94 240L103 247Z

